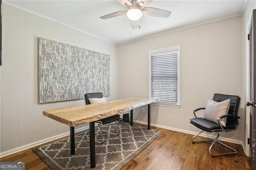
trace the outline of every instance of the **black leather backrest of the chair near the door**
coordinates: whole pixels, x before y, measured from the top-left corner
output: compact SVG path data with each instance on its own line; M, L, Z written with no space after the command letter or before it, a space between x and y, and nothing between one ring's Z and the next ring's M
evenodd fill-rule
M221 102L224 100L230 99L230 109L228 114L238 115L239 105L240 105L240 97L234 95L222 95L222 94L214 94L214 101ZM227 117L226 128L234 128L238 125L238 119L234 117Z

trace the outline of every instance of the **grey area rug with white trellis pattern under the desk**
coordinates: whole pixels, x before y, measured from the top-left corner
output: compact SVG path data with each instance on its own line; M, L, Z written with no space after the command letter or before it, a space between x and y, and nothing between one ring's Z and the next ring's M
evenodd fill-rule
M153 142L162 132L148 130L147 128L118 125L113 123L119 136L104 133L103 144L95 142L96 167L94 170L119 170L139 154L146 146ZM98 130L98 128L95 128ZM109 126L102 126L102 130L112 130ZM75 135L76 154L70 154L70 138L34 148L34 152L53 170L87 170L90 168L90 142L86 137L89 131ZM100 133L95 134L96 139L101 139Z

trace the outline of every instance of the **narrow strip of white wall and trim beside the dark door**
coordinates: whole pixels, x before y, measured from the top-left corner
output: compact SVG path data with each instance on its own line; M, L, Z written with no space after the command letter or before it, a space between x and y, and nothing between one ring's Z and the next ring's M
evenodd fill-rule
M252 17L252 10L256 9L256 1L248 1L246 4L246 8L244 10L244 14L242 16L242 96L244 96L244 98L242 98L242 103L244 103L244 105L242 105L243 109L243 113L242 115L242 119L245 121L247 120L246 123L244 123L244 126L242 127L242 130L244 131L243 133L243 143L244 145L247 144L247 138L250 137L250 134L248 133L250 128L250 122L249 122L249 114L250 113L246 113L246 106L245 103L247 101L249 101L249 96L248 96L248 74L249 74L249 44L248 44L248 40L247 40L247 35L249 34L249 24L250 24L250 20ZM246 117L248 117L246 119ZM246 150L246 154L249 156L249 150L247 148Z

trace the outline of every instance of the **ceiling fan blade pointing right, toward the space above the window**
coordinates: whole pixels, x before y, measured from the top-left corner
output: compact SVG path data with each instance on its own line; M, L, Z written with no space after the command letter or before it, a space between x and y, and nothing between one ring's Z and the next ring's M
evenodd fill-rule
M142 11L144 16L154 16L160 18L168 18L172 12L161 10L158 8L144 7Z

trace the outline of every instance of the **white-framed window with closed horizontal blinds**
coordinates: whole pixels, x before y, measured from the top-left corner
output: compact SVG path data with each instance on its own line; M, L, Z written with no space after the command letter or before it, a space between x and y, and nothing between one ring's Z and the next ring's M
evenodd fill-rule
M180 105L180 46L149 51L150 97Z

